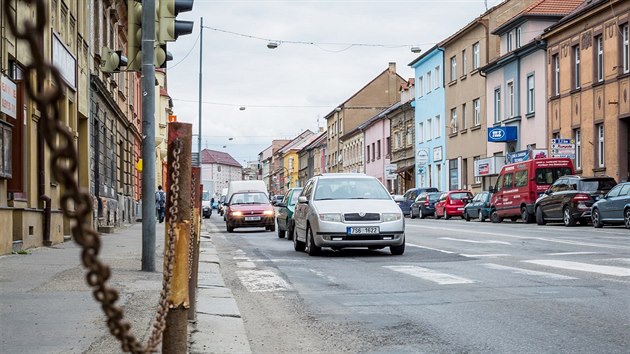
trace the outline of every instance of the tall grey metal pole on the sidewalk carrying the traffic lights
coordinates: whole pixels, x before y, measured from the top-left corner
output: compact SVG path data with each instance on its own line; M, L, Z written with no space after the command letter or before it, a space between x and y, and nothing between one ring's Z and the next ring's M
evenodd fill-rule
M142 270L155 271L155 0L142 1Z

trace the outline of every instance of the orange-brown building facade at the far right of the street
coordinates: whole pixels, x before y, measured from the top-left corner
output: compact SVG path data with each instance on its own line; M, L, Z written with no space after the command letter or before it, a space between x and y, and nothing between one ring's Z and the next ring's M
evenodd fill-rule
M628 1L587 1L542 35L547 138L573 140L576 173L617 182L630 171L629 20Z

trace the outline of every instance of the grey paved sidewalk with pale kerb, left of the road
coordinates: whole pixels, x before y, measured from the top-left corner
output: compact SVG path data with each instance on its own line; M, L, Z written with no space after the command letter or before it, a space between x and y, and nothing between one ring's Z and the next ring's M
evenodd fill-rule
M157 224L157 272L142 272L142 224L101 237L101 259L133 335L146 342L162 283L164 225ZM0 257L0 348L4 353L120 353L105 315L85 283L73 241ZM212 235L202 226L197 320L189 323L191 353L251 352L231 291L220 273Z

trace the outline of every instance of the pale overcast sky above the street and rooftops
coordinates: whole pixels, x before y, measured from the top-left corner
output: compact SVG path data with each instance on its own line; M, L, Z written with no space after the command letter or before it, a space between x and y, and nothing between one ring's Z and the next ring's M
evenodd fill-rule
M195 21L193 33L168 47L174 112L193 123L196 151L201 17L202 148L225 151L244 165L273 139L316 131L318 119L325 126L323 117L389 62L403 78L413 77L408 64L420 54L411 46L431 48L485 6L484 0L195 0L193 12L178 16ZM279 46L268 49L269 40Z

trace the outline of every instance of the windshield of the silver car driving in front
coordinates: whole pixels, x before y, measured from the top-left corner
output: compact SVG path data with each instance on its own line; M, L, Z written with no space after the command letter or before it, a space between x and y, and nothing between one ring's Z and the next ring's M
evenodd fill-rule
M322 178L315 189L315 200L391 199L375 178Z

